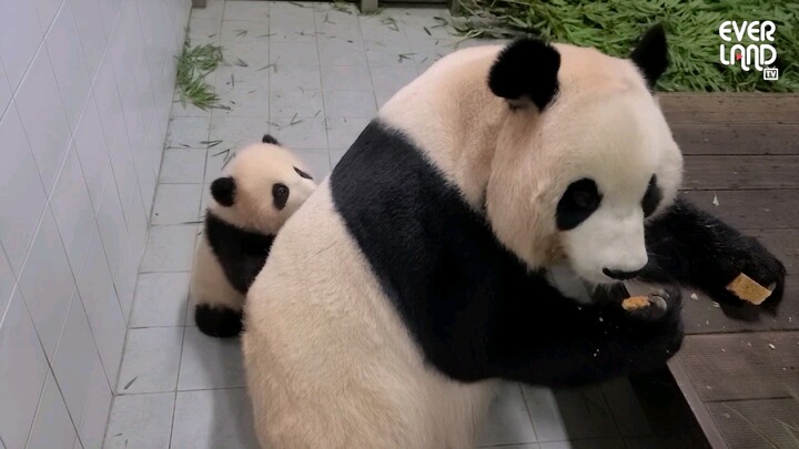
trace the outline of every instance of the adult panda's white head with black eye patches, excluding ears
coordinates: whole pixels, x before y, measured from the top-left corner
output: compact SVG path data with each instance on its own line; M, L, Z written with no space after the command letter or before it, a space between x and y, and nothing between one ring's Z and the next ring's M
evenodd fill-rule
M498 238L530 267L567 263L595 284L647 264L645 221L676 197L682 156L629 60L553 45L557 94L543 111L512 110L486 205Z

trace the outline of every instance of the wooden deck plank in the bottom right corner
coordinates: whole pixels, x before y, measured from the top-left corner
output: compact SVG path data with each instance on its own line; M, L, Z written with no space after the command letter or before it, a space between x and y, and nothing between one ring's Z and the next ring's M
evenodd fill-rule
M730 449L799 448L799 399L711 402L707 407Z

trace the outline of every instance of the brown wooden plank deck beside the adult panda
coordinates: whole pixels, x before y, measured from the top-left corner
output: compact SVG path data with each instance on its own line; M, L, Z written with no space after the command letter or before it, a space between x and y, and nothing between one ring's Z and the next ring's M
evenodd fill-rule
M748 316L686 290L689 335L669 368L714 447L799 448L799 95L668 94L661 105L687 196L789 273L779 307Z

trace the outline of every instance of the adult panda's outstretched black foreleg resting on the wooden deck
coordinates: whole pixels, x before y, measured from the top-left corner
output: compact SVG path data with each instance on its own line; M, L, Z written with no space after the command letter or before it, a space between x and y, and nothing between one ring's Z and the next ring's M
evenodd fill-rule
M678 197L646 227L649 263L640 278L677 282L707 292L719 302L741 304L727 290L740 273L772 289L778 303L785 285L785 266L760 242Z

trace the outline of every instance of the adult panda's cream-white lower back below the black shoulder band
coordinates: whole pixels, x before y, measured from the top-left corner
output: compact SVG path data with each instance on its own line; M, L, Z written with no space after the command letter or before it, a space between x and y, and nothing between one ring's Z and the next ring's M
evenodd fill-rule
M459 385L424 365L332 207L326 180L247 294L242 346L261 443L472 447L492 384Z

